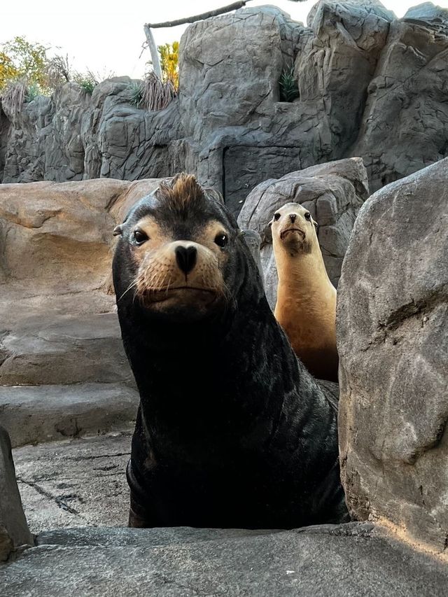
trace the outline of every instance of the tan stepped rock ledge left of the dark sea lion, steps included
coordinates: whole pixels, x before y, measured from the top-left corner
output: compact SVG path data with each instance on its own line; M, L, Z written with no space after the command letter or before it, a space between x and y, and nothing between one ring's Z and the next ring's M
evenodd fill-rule
M111 291L112 231L157 185L0 185L0 420L13 445L134 419L137 398ZM62 384L81 386L64 393ZM10 388L16 385L54 387Z

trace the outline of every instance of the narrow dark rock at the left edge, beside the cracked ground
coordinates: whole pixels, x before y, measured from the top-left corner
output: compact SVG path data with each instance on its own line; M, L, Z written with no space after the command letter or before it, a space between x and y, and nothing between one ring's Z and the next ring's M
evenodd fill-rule
M0 427L0 562L22 545L34 545L34 540L22 509L8 433Z

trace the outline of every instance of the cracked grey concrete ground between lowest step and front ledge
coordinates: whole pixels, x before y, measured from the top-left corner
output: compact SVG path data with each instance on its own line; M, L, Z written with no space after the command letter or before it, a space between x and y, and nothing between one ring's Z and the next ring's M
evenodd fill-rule
M13 450L31 533L71 526L125 526L125 469L132 429Z

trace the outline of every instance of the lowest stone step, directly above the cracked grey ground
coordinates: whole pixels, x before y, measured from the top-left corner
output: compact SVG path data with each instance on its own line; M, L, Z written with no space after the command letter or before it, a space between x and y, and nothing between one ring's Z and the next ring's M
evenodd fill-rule
M0 421L13 447L125 430L138 405L125 384L0 386Z

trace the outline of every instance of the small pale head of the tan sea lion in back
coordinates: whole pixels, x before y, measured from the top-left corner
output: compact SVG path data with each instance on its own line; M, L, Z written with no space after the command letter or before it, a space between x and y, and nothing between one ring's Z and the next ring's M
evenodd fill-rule
M272 240L294 253L311 253L317 241L317 223L300 203L286 203L272 217Z

